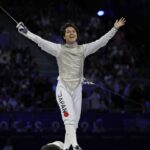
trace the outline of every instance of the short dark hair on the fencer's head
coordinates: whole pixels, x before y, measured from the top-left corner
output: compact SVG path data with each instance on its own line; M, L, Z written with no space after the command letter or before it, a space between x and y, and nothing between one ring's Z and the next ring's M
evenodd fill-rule
M68 27L73 27L73 28L76 30L77 35L79 35L79 30L78 30L77 26L76 26L74 23L72 23L72 22L67 22L67 23L65 23L65 24L61 27L61 35L62 35L62 36L65 35L65 32L66 32L65 30L66 30L66 28L68 28Z

